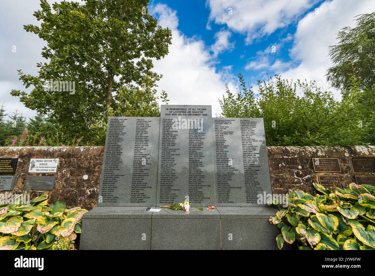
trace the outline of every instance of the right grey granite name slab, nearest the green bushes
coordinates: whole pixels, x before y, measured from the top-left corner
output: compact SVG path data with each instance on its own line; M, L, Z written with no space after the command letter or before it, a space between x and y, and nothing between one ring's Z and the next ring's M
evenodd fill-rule
M263 195L272 190L263 118L212 121L216 205L266 205Z

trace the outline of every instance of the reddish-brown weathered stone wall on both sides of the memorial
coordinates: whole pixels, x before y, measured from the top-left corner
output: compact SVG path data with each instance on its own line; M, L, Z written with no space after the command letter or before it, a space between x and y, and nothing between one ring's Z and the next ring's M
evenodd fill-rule
M375 146L269 146L267 151L272 192L278 194L291 188L314 192L312 182L318 182L318 176L312 158L339 158L341 173L319 174L338 175L342 187L347 187L355 182L350 157L375 156ZM31 198L45 193L50 203L64 201L68 208L80 206L88 210L96 207L98 201L103 153L103 146L0 147L0 158L19 158L13 194L25 192L27 175L55 175L53 191L32 191ZM30 158L59 158L60 163L56 173L28 173Z

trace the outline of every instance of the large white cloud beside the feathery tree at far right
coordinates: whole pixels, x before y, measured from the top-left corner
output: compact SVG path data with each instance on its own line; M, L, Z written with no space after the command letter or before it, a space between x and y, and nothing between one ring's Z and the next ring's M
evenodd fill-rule
M318 85L329 89L326 70L333 64L328 56L329 46L337 43L336 33L343 27L354 27L353 17L375 10L373 0L359 0L356 4L350 0L326 1L317 11L310 12L299 21L294 34L294 45L290 56L300 61L299 66L281 72L283 78L294 80L316 80ZM337 98L339 91L332 90Z

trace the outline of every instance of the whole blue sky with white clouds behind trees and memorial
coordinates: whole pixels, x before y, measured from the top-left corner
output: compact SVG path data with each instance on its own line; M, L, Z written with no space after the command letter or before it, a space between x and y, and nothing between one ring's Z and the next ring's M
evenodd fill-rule
M45 42L23 29L39 23L37 9L39 0L6 0L0 10L0 104L28 117L36 112L10 90L25 90L17 69L36 75L36 63L44 62ZM151 0L148 12L172 30L169 54L154 60L154 71L163 74L158 92L168 93L169 104L207 104L219 114L225 84L236 92L242 72L255 92L258 79L279 74L316 80L340 98L324 76L332 66L328 47L340 29L355 26L353 17L374 11L374 0Z

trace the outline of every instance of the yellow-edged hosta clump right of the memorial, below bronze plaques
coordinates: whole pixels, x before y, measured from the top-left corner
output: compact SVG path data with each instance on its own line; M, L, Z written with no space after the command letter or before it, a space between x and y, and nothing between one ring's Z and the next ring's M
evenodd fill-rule
M375 187L313 186L316 195L290 190L287 209L277 199L270 202L279 208L269 219L281 231L276 237L279 249L294 243L300 250L375 250Z

